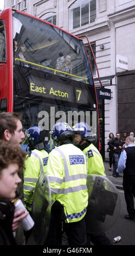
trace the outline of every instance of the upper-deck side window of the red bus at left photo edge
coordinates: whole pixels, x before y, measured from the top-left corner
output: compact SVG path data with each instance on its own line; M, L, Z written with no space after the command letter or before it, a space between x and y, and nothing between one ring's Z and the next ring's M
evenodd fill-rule
M5 29L3 21L0 20L0 62L5 60Z

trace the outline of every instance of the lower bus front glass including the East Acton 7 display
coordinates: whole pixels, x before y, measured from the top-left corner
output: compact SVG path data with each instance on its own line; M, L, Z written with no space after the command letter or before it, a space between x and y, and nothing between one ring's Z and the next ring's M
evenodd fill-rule
M22 114L24 131L30 126L50 131L56 121L71 127L83 121L91 127L91 137L98 139L94 87L78 81L16 65L14 111Z

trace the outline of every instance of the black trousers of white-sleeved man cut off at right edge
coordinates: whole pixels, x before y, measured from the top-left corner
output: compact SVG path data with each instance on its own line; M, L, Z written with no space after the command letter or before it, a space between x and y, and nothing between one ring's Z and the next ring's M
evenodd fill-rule
M135 218L133 200L133 197L135 197L135 175L123 176L123 189L128 215L131 218Z

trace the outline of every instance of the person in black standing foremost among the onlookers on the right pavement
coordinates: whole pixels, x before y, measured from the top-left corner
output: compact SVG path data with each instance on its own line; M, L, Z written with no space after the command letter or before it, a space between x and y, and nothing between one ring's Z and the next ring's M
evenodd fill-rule
M118 168L118 161L119 161L119 157L120 157L120 153L121 153L121 149L122 149L119 132L116 133L116 137L113 138L112 141L108 142L108 145L113 150L114 167L113 167L112 176L114 178L117 178L118 176L120 176L117 172L117 168Z

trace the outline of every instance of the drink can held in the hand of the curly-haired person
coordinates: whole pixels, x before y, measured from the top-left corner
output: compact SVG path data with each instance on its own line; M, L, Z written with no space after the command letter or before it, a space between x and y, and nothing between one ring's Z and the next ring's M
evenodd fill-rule
M25 209L25 212L27 212L27 209L25 208L21 199L14 199L13 202L14 202L14 205L15 205L15 211ZM23 218L23 220L21 220L21 224L22 224L25 231L30 230L31 228L33 228L34 221L33 221L33 218L31 218L30 214L27 217Z

